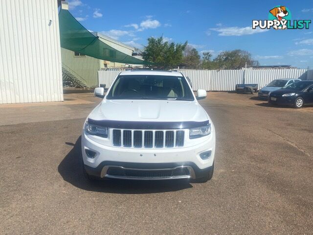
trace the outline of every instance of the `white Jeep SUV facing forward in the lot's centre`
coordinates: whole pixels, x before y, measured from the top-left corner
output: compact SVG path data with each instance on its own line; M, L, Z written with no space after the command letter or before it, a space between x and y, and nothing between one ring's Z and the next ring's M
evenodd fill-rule
M88 179L212 178L215 128L177 71L123 71L90 113L82 132Z

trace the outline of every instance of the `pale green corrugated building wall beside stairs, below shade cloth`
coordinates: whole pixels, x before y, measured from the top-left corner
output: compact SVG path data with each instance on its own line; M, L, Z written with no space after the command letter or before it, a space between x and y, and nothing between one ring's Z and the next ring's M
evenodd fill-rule
M100 70L99 60L90 56L74 56L74 51L61 48L62 65L65 69L74 74L88 87L98 86L98 70Z

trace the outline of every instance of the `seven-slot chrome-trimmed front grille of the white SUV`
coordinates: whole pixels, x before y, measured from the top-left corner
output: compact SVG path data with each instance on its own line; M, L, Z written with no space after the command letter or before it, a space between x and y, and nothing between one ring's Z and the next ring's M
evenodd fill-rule
M112 130L113 146L134 148L173 148L184 146L185 131Z

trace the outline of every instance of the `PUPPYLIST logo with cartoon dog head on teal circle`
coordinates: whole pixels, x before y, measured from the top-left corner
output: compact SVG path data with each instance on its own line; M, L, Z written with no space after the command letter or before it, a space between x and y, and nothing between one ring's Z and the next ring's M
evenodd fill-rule
M261 29L309 29L311 20L291 21L291 12L286 6L275 6L269 10L268 20L253 20L252 28Z

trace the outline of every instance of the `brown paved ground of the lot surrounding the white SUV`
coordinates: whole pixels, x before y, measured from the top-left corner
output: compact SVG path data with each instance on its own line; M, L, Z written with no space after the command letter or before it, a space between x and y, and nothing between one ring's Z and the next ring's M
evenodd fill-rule
M312 234L313 107L209 93L213 179L87 182L79 137L100 102L0 106L0 234Z

